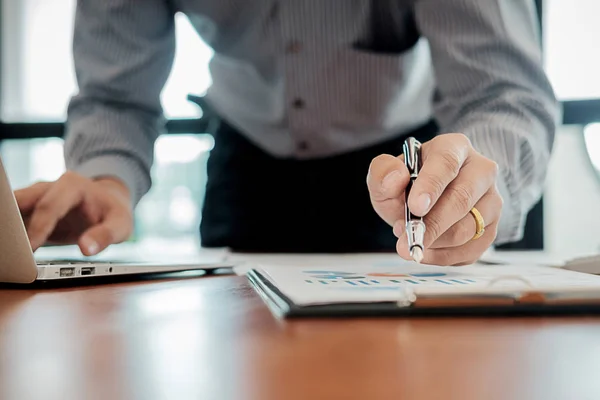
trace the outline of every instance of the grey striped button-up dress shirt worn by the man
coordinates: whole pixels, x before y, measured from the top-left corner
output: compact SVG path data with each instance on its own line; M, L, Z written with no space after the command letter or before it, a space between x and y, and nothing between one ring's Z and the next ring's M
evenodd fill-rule
M499 165L496 243L522 236L560 114L533 1L78 0L67 168L122 179L134 204L151 185L177 12L215 52L208 103L265 151L327 157L435 118Z

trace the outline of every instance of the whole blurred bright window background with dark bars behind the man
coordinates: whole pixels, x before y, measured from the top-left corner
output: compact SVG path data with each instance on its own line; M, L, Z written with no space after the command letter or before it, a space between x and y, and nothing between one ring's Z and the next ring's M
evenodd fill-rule
M64 171L62 122L76 92L71 32L75 0L0 0L0 154L14 187ZM564 102L543 200L519 248L600 250L600 26L598 0L537 2L545 67ZM197 242L206 118L188 96L211 83L212 51L178 15L175 64L162 94L168 134L156 143L154 187L137 210L134 241Z

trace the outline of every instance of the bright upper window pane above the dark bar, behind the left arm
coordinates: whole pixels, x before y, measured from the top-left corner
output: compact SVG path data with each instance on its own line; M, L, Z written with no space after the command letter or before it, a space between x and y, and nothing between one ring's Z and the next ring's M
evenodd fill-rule
M77 91L71 36L75 0L3 0L2 120L63 121ZM176 16L177 50L162 93L168 118L199 117L187 101L211 83L212 50L188 19Z

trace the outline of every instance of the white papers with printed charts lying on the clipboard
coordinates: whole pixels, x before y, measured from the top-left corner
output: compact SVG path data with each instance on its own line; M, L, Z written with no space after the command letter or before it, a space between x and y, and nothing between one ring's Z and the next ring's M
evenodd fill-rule
M395 301L401 293L503 294L592 291L600 276L531 265L425 266L404 260L312 265L261 265L256 270L298 305Z

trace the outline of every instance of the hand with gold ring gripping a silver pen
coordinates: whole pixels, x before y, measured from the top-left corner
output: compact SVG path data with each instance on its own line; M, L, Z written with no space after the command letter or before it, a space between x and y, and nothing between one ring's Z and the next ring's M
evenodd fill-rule
M405 154L411 154L410 144L405 144ZM398 254L435 265L477 261L494 242L502 211L496 163L479 154L462 134L443 134L423 143L418 157L419 165L412 166L404 154L380 155L367 177L375 211L398 237ZM414 234L421 218L424 236L415 245L407 231L410 234L412 227Z

